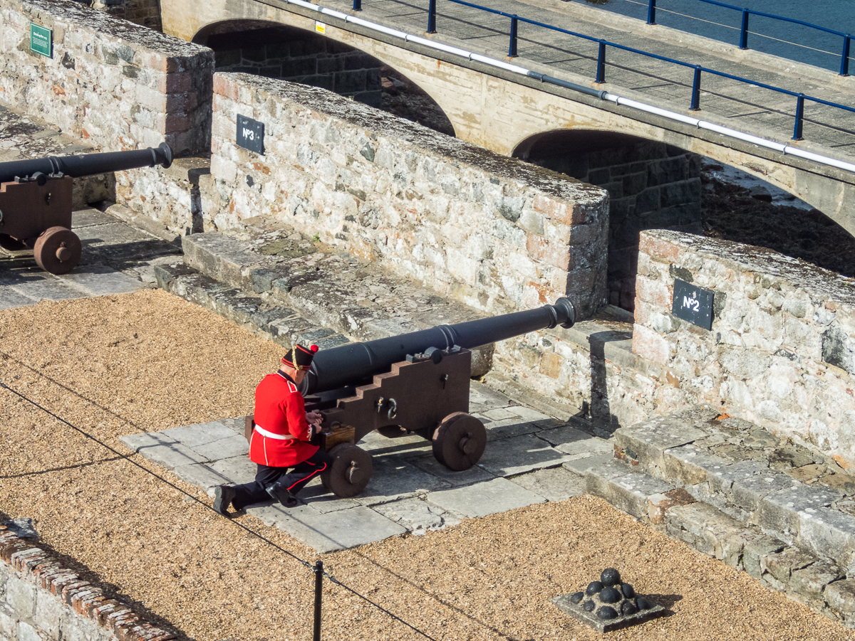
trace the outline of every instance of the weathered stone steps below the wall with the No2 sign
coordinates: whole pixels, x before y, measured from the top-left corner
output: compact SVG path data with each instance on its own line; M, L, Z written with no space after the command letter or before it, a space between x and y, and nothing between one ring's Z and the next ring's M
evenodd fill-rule
M855 627L855 478L707 407L614 434L587 491Z

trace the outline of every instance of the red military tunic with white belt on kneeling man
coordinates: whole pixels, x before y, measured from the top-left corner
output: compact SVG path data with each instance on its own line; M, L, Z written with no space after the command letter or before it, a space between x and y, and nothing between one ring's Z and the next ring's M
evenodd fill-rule
M264 376L258 383L253 420L256 423L250 441L253 463L287 468L303 463L318 450L318 446L309 442L312 430L306 421L303 396L279 372ZM282 436L286 439L277 438Z

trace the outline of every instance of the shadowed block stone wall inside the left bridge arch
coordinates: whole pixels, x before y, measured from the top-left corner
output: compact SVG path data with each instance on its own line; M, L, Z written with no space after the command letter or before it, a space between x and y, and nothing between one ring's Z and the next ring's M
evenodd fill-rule
M204 44L214 50L217 71L310 84L380 107L383 64L320 34L267 27L211 34Z

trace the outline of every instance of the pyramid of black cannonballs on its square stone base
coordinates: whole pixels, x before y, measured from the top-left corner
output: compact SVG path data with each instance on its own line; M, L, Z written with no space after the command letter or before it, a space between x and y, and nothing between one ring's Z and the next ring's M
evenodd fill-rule
M599 632L640 623L663 611L663 607L623 583L615 568L605 568L599 580L591 581L585 591L563 594L552 602Z

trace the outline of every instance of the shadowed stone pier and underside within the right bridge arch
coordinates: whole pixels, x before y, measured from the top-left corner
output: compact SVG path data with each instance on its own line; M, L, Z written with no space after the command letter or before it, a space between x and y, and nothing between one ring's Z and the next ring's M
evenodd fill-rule
M609 302L633 311L639 233L701 232L700 162L672 145L622 133L545 131L513 155L609 192Z

